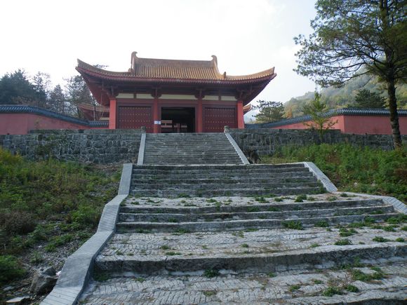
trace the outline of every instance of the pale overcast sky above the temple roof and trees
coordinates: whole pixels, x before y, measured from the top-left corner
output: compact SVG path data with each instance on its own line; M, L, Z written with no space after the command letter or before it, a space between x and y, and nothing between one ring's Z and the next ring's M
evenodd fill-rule
M138 57L211 60L241 75L275 67L255 100L286 102L314 90L293 72L293 37L309 34L313 0L1 1L0 75L25 69L53 85L76 74L76 58L127 71Z

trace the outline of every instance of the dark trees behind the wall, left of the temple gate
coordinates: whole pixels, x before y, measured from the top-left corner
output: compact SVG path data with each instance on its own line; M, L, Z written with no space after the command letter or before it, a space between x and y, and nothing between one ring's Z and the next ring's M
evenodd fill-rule
M29 76L24 70L7 73L0 79L0 104L25 104L60 114L81 117L78 104L95 104L82 76L65 79L65 84L52 87L48 74Z

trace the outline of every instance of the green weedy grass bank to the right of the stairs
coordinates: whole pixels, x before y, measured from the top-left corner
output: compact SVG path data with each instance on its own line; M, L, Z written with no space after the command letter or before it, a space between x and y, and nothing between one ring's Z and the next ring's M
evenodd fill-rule
M407 203L406 147L384 151L347 143L293 145L262 156L263 163L302 161L314 162L342 191L394 196Z

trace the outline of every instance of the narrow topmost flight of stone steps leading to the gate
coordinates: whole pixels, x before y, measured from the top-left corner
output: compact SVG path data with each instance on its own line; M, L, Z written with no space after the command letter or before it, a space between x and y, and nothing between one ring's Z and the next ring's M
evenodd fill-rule
M242 164L242 161L224 133L148 133L144 164Z

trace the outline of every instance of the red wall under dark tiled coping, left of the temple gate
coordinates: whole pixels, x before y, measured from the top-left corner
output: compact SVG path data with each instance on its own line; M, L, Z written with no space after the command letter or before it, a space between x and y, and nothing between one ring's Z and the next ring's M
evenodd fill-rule
M0 135L26 135L38 129L102 129L69 123L38 114L0 114Z

